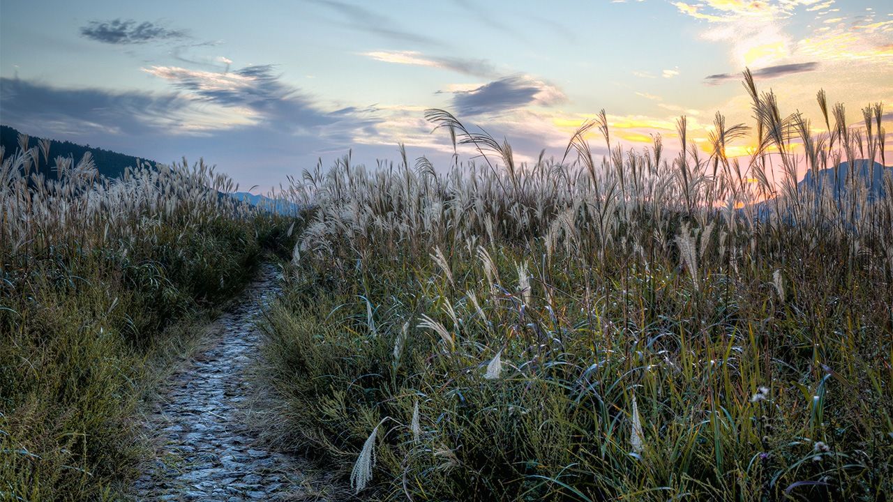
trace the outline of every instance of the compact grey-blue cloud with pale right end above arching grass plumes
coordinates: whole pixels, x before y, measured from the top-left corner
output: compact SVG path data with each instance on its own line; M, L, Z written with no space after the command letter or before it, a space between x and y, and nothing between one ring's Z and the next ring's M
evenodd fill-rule
M513 75L469 91L456 91L453 107L460 116L471 116L529 105L555 105L564 99L563 92L555 86L527 75Z

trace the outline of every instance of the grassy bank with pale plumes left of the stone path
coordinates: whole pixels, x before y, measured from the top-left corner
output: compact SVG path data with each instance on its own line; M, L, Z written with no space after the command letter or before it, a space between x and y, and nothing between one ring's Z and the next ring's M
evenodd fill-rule
M135 417L158 362L280 227L185 161L106 180L60 158L60 180L29 180L46 146L0 155L0 499L117 499L151 453Z

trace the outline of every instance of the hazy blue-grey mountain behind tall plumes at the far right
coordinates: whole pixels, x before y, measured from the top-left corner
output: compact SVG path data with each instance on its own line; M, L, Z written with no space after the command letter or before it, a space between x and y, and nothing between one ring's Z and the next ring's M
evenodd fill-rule
M847 190L853 185L853 177L857 183L863 183L867 190L869 201L887 197L888 187L885 176L893 175L893 167L884 167L879 162L870 163L868 160L859 159L853 161L854 169L850 170L849 163L840 163L838 168L824 169L813 176L813 172L806 172L797 188L804 190L819 190L830 193L836 200L847 196Z

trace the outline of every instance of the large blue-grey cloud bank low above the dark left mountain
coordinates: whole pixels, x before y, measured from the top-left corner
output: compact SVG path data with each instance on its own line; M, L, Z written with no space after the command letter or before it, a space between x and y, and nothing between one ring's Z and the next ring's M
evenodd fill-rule
M268 186L288 169L312 165L318 156L346 153L358 136L381 136L378 110L326 111L297 92L283 96L270 83L252 81L268 74L264 68L249 67L237 77L219 79L172 69L158 73L174 82L175 91L61 88L0 78L0 109L5 124L30 134L162 162L204 156L226 172L241 170L251 184ZM296 110L300 113L292 115ZM390 145L399 140L388 138ZM392 149L388 147L388 155Z

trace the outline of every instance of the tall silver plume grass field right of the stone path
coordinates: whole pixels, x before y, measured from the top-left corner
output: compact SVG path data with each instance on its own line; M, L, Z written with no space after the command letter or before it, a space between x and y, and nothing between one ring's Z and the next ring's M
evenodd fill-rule
M372 499L893 492L893 198L797 185L885 163L882 107L847 124L820 92L815 134L745 88L755 123L717 114L709 153L684 117L678 155L624 150L603 112L521 165L430 110L477 162L305 172L265 323L271 431ZM752 159L727 158L746 137Z

